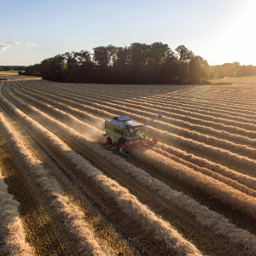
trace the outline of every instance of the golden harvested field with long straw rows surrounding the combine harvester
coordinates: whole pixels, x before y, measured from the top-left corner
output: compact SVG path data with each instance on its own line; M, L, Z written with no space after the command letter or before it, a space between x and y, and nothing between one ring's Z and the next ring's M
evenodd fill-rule
M1 255L256 255L256 79L0 81ZM159 148L109 145L130 114Z

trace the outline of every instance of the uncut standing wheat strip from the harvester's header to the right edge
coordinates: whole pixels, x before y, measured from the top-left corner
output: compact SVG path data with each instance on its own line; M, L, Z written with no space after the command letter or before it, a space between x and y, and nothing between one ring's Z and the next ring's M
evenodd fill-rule
M217 196L220 201L230 204L234 209L238 209L255 218L256 198L241 193L240 191L219 182L212 177L207 177L201 172L195 172L187 166L183 166L176 161L166 158L147 148L134 150L137 157L148 161L152 166L161 172L166 172L195 189L201 189L202 192L210 196Z

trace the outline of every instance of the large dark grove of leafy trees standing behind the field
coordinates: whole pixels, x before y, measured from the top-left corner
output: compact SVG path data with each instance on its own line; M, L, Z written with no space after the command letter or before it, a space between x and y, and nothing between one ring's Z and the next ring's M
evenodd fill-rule
M128 47L99 46L67 52L26 67L20 74L75 83L199 84L209 79L210 67L184 45L134 43Z

